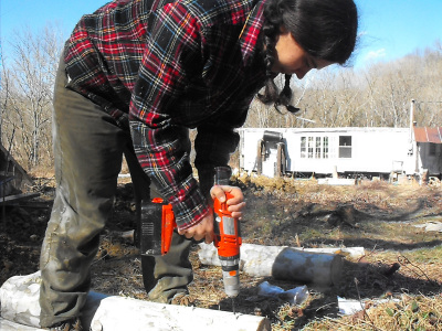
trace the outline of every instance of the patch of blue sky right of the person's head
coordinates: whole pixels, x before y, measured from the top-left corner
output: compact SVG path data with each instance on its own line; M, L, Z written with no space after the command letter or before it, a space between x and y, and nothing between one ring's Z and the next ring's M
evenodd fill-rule
M361 34L357 65L391 61L442 42L442 0L356 0Z

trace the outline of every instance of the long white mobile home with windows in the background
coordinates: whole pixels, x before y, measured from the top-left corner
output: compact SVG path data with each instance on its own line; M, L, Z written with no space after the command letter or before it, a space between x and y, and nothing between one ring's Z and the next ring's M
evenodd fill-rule
M345 177L442 173L442 139L429 128L243 128L240 168L267 177L287 173ZM442 134L442 128L435 128ZM414 134L414 131L417 134ZM418 139L415 139L418 136Z

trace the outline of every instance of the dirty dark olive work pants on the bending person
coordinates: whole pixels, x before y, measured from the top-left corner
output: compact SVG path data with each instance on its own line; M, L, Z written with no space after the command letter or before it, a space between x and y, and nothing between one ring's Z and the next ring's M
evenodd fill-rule
M109 217L123 154L129 166L137 206L150 195L150 181L122 129L101 107L65 88L61 61L54 90L53 143L56 195L42 246L42 327L80 317L91 286L91 263ZM127 126L128 128L128 126ZM154 301L169 302L192 280L191 241L173 235L165 257L144 257L146 289Z

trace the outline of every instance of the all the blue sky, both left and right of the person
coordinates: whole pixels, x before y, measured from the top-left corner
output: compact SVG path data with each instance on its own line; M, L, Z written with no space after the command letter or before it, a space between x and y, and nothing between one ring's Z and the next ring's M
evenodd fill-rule
M106 0L0 0L0 33L3 54L14 30L40 31L57 23L65 36L83 13ZM442 41L442 0L356 0L360 15L360 43L355 66L392 61L414 50Z

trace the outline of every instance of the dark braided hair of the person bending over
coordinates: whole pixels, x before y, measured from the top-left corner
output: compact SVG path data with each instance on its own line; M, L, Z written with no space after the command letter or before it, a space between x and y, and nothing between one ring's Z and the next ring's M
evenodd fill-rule
M274 103L276 109L278 105L285 105L288 111L295 113L298 109L288 105L292 99L292 76L285 75L285 85L280 94L273 82L275 73L271 71L281 26L288 30L313 57L344 65L355 50L358 13L352 0L266 1L262 38L267 79L264 95L259 95L259 98L264 104Z

